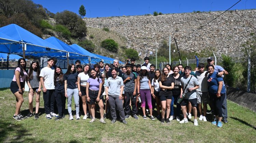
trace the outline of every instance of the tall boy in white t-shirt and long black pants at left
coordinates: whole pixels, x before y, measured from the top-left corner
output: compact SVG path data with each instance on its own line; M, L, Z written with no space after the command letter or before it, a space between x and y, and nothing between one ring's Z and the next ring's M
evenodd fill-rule
M52 119L56 117L57 114L54 113L54 59L48 59L47 66L44 67L40 72L40 82L43 87L43 99L44 99L44 110L47 119Z

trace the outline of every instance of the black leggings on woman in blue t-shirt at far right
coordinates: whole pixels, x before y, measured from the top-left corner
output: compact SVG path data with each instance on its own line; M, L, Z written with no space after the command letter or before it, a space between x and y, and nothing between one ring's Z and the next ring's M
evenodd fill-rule
M213 110L215 115L222 117L222 105L225 99L226 93L221 94L221 97L217 98L216 94L210 93L210 98L213 102Z

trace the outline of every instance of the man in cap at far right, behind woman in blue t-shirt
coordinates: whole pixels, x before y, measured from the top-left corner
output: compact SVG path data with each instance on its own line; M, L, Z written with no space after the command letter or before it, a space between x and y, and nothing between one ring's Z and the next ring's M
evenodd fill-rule
M213 65L214 72L218 73L219 76L223 76L224 74L228 75L228 72L222 66L214 65L214 60L212 57L209 57L207 59L207 64ZM223 86L225 86L224 81L223 81ZM211 109L213 109L213 108L211 108ZM222 104L222 120L225 124L228 124L227 118L228 118L227 96L225 96L223 104Z

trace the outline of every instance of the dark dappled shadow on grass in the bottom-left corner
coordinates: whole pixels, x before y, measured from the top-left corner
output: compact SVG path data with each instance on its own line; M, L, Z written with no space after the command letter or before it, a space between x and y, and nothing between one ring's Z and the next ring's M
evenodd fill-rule
M33 142L31 135L22 125L0 121L0 142Z

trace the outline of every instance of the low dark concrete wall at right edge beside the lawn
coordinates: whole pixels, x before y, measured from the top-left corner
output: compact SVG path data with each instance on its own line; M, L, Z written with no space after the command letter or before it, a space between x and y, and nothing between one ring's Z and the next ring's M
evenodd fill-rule
M256 94L236 88L227 88L227 99L256 112Z

